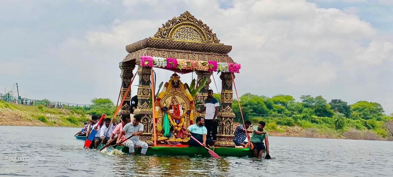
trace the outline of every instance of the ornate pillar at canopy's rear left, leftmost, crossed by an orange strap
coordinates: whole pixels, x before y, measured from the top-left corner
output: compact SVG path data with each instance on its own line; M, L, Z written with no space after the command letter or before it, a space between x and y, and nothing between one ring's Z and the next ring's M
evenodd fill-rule
M131 83L132 77L134 77L134 74L132 73L132 70L135 68L135 64L126 64L126 63L119 63L119 68L121 69L121 91L120 91L120 98L123 98L125 92L127 91L128 86ZM123 101L123 104L120 107L120 110L118 112L118 120L121 120L121 116L125 114L130 114L130 100L131 100L131 90L128 92L127 96L125 97L125 100Z

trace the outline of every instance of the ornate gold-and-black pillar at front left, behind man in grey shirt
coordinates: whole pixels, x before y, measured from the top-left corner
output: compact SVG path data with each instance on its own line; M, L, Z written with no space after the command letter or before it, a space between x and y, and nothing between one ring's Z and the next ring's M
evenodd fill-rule
M140 136L140 140L146 142L147 144L153 144L153 141L151 140L151 120L153 111L149 106L149 100L151 96L151 68L139 67L137 73L139 76L138 106L134 110L134 114L142 115L141 124L143 124L143 134Z

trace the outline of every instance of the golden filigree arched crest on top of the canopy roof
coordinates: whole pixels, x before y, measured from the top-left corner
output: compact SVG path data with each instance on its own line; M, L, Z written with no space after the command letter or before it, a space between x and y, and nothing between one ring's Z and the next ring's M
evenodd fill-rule
M158 28L154 38L174 41L220 43L216 33L213 33L213 30L209 26L204 24L202 20L196 19L188 11L162 24L162 28Z

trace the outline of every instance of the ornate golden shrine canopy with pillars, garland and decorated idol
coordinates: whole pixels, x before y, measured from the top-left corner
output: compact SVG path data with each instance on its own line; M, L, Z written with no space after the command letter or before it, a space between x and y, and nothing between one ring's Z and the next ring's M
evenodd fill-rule
M128 54L119 63L119 68L121 69L120 77L122 78L121 93L124 95L127 88L130 87L130 81L134 76L133 70L138 65L138 105L134 110L134 114L141 114L143 117L141 123L144 125L144 129L143 134L140 136L142 141L151 145L156 140L159 140L154 138L154 135L157 136L157 133L154 134L155 124L160 123L163 125L165 112L169 111L170 114L168 112L167 114L169 115L168 119L171 118L169 121L172 126L170 131L174 135L169 140L181 143L187 142L189 137L183 136L182 129L195 123L195 118L198 114L194 115L194 112L196 113L196 111L200 110L199 106L195 107L195 103L204 103L204 100L208 97L207 93L209 84L212 82L211 76L213 72L220 72L219 78L222 86L221 109L217 114L219 128L215 145L235 146L232 142L234 137L233 118L235 118L232 110L232 85L233 73L239 73L240 64L235 63L228 55L232 50L232 46L220 43L217 35L213 33L213 30L208 25L202 22L202 20L196 19L188 11L185 11L180 16L173 17L163 23L162 27L158 28L152 37L129 44L125 49ZM141 62L142 60L143 62ZM156 65L163 61L167 62L165 66ZM176 65L178 67L168 67L171 65L176 66L173 61L177 62ZM152 96L150 79L152 68L170 70L177 74L195 72L197 85L201 84L206 78L206 86L194 98L193 96L189 98L191 94L187 93L187 89L180 81L180 76L173 75L173 78L163 87L164 90L168 89L168 92L162 90L159 93L161 95L158 97L159 106L158 109L154 109L156 115L153 115L152 105L149 104L149 98ZM171 90L173 79L177 79L180 85L183 86ZM123 105L121 105L119 115L130 113L130 99L131 94L129 93ZM184 116L184 114L189 115ZM199 116L204 117L205 112L202 112ZM185 117L185 120L180 119L182 117Z

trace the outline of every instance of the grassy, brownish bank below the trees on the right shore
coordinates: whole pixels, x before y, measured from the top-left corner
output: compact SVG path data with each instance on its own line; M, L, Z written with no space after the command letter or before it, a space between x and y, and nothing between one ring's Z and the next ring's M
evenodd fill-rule
M298 136L308 138L339 138L355 140L393 140L384 127L384 121L345 120L344 126L336 129L333 118L314 116L311 121L289 117L253 117L254 126L266 122L265 129L274 136Z

